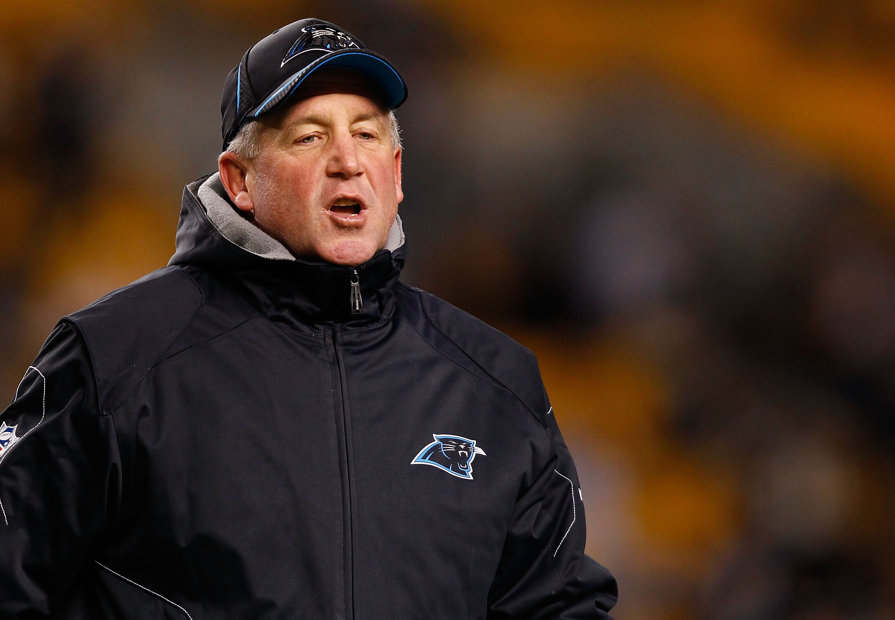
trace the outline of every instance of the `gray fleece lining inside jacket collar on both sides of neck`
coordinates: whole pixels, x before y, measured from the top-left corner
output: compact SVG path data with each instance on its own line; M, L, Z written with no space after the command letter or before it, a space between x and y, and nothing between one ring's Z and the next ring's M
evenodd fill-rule
M226 240L265 259L295 259L292 253L286 250L285 245L239 214L239 211L230 202L224 184L221 183L220 174L215 173L209 176L208 180L200 185L198 194L211 224L217 228L218 233L224 235ZM401 225L401 217L396 216L395 224L388 231L385 249L396 251L404 245L404 242L404 227Z

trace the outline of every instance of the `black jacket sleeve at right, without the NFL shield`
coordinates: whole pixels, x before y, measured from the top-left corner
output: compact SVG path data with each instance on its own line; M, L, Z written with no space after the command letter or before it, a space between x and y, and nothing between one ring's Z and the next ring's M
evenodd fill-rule
M498 572L489 593L489 619L610 618L615 578L584 555L584 505L575 463L556 420L548 415L550 454L535 459L516 500Z

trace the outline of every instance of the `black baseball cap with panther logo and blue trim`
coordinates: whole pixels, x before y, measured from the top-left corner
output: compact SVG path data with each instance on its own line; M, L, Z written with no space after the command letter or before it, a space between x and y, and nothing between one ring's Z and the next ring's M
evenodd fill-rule
M280 106L321 67L361 72L379 88L390 110L407 98L396 68L358 38L328 21L294 21L250 47L226 76L221 97L224 149L244 123Z

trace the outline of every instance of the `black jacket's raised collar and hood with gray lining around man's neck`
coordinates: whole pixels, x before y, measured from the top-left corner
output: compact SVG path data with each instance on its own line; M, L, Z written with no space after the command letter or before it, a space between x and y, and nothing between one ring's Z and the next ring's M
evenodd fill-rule
M357 268L296 259L240 215L215 173L183 189L176 250L168 265L230 272L268 314L291 314L308 323L368 323L388 313L391 288L404 261L400 217L388 232L386 246ZM353 279L360 283L360 314L351 311Z

